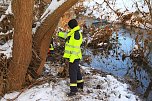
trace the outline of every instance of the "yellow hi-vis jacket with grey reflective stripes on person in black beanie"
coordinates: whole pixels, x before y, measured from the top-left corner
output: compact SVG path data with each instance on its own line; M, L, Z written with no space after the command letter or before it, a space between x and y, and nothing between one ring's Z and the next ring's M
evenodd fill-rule
M68 58L71 63L73 63L75 59L82 59L80 48L82 44L82 34L80 32L80 26L74 27L68 34L59 32L58 36L66 39L64 58Z

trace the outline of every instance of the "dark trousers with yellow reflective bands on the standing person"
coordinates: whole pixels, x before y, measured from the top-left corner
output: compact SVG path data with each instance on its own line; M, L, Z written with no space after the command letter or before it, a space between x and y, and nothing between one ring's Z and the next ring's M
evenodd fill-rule
M80 72L79 59L74 60L73 63L69 62L69 76L70 76L70 90L71 92L77 92L77 88L83 89L82 75ZM76 84L71 86L71 84Z

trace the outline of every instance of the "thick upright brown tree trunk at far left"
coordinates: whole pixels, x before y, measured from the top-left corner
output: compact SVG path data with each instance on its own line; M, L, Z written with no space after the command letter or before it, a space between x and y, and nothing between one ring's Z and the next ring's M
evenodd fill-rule
M12 61L8 68L9 90L21 89L32 56L32 17L34 0L13 0L14 38Z

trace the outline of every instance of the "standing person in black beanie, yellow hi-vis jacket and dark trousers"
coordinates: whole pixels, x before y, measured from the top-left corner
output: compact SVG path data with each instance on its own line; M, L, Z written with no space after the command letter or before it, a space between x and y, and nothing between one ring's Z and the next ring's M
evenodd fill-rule
M82 59L80 48L82 44L82 34L76 19L71 19L68 22L68 26L71 30L68 33L59 32L58 36L66 40L63 58L69 60L70 77L70 92L67 93L67 96L73 96L76 95L78 91L83 91L84 85L79 66L79 61Z

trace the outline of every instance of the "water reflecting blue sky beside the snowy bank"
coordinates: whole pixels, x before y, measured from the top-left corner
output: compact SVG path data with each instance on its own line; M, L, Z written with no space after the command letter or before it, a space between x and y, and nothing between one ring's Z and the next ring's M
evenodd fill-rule
M138 40L137 40L138 36ZM84 55L89 55L91 61L82 65L112 73L128 80L134 86L135 92L144 96L147 101L152 101L152 34L147 34L144 30L127 29L120 27L117 32L113 32L110 37L112 49L87 48ZM145 44L148 40L148 44ZM130 58L136 44L145 47L144 59L146 63L134 61ZM96 51L96 54L94 52ZM122 55L125 53L125 59Z

